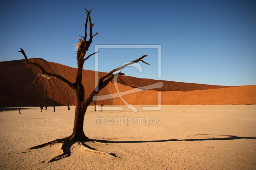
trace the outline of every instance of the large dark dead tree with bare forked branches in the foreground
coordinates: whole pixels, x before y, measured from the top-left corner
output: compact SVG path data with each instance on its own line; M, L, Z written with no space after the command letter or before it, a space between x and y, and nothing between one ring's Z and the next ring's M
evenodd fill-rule
M64 147L68 143L74 142L74 141L77 141L78 143L81 142L81 141L91 141L91 139L86 137L85 134L84 134L84 115L85 115L87 107L92 102L93 96L97 95L100 92L100 90L102 90L104 87L106 87L108 85L108 83L114 78L114 76L116 76L116 74L113 74L113 73L115 73L117 71L120 71L121 69L127 67L128 65L131 65L133 63L138 63L139 61L141 61L143 63L146 63L142 59L144 59L144 57L146 57L147 55L143 55L142 57L132 61L131 63L124 64L123 66L120 66L119 68L116 68L116 69L110 71L105 76L102 76L101 78L99 78L99 82L96 85L96 88L88 96L85 96L84 86L82 85L83 65L84 65L84 62L89 57L91 57L92 55L99 52L98 51L98 52L92 53L92 54L88 55L87 57L85 57L85 54L88 52L89 47L92 43L92 38L95 35L98 34L98 33L95 33L94 35L92 34L92 27L93 27L94 24L92 24L92 21L91 21L91 15L90 15L91 11L87 11L86 21L85 21L85 24L84 24L84 27L85 27L84 37L81 36L83 39L79 39L79 43L76 44L77 48L78 48L77 53L76 53L77 72L76 72L76 81L74 83L71 83L66 78L64 78L60 75L47 72L38 63L28 62L28 58L27 58L24 50L20 48L20 51L19 51L25 57L25 64L32 64L32 65L36 66L38 69L40 69L40 71L41 71L41 74L39 74L36 77L34 82L39 77L43 77L43 78L47 78L47 79L57 78L60 81L62 81L63 83L67 84L71 89L73 89L74 92L75 92L75 95L76 95L75 120L74 120L74 127L73 127L72 134L68 137L65 137L65 138L62 138L62 139L56 139L54 141L51 141L51 142L48 142L48 143L45 143L45 144L41 144L41 145L37 145L35 147L30 148L30 149L36 149L36 148L44 147L46 145L52 145L52 144L55 144L55 143L62 143L61 151L63 152L63 154L51 159L49 162L54 161L58 158L65 157L67 154L64 152ZM88 21L89 21L90 33L89 33L89 39L87 40L87 24L88 24ZM148 63L146 63L146 64L148 64ZM108 155L110 155L110 154L108 154Z

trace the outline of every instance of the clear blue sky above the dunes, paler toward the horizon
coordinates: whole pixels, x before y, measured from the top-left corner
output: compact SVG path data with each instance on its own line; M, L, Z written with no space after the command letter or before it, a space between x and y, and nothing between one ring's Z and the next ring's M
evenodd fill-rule
M256 1L1 1L0 61L43 58L76 65L74 43L91 10L95 44L160 44L162 80L256 85ZM100 71L148 55L143 72L157 79L156 49L100 49ZM94 70L94 56L84 65ZM85 75L84 75L85 76Z

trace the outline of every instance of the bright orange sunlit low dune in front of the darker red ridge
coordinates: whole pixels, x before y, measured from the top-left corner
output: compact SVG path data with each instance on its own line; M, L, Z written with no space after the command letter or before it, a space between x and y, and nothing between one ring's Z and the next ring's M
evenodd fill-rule
M124 96L124 100L133 105L157 105L157 92L133 93ZM249 103L256 103L256 85L188 92L161 92L161 105L243 105Z

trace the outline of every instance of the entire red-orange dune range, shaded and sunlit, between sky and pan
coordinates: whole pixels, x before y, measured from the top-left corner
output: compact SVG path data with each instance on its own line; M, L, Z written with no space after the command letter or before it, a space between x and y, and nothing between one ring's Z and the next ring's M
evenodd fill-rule
M29 61L40 64L46 71L59 74L72 83L75 82L75 68L39 58L32 58ZM36 106L38 101L45 101L51 106L52 93L58 105L65 105L68 99L75 101L74 91L58 79L39 78L33 85L40 71L35 66L24 63L25 60L0 62L2 73L0 75L0 88L2 89L0 100L5 99L4 106L18 106L19 101L22 106ZM100 77L105 74L99 72ZM164 86L123 96L124 100L133 105L156 105L157 92L161 91L162 105L256 104L256 85L218 86L119 76L118 88L122 92L157 82L163 82ZM82 83L86 91L85 96L87 96L95 87L95 72L83 70ZM99 95L111 93L116 93L113 83L109 83ZM101 102L98 101L98 104ZM124 103L119 98L115 98L106 100L104 105L124 105Z

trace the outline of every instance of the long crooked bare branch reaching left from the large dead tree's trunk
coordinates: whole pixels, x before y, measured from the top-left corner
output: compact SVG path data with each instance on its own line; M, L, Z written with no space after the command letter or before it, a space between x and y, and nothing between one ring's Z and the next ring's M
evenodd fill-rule
M66 83L69 87L71 87L72 89L76 89L76 86L73 84L73 83L71 83L71 82L69 82L67 79L65 79L65 78L63 78L62 76L60 76L60 75L57 75L57 74L52 74L52 73L49 73L49 72L47 72L47 71L45 71L44 70L44 68L41 66L41 65L39 65L39 64L37 64L37 63L35 63L35 62L28 62L28 58L27 58L27 55L25 54L25 52L24 52L24 50L22 49L22 48L20 48L20 51L19 51L20 53L22 53L23 55L24 55L24 57L25 57L25 64L32 64L32 65L35 65L37 68L39 68L40 70L41 70L41 75L38 75L37 77L36 77L36 79L39 77L39 76L42 76L42 77L45 77L45 78L47 78L47 79L50 79L51 77L53 77L53 78L58 78L59 80L61 80L62 82L64 82L64 83ZM48 77L47 77L48 76ZM34 82L36 81L36 79L34 80ZM34 83L33 82L33 83Z

